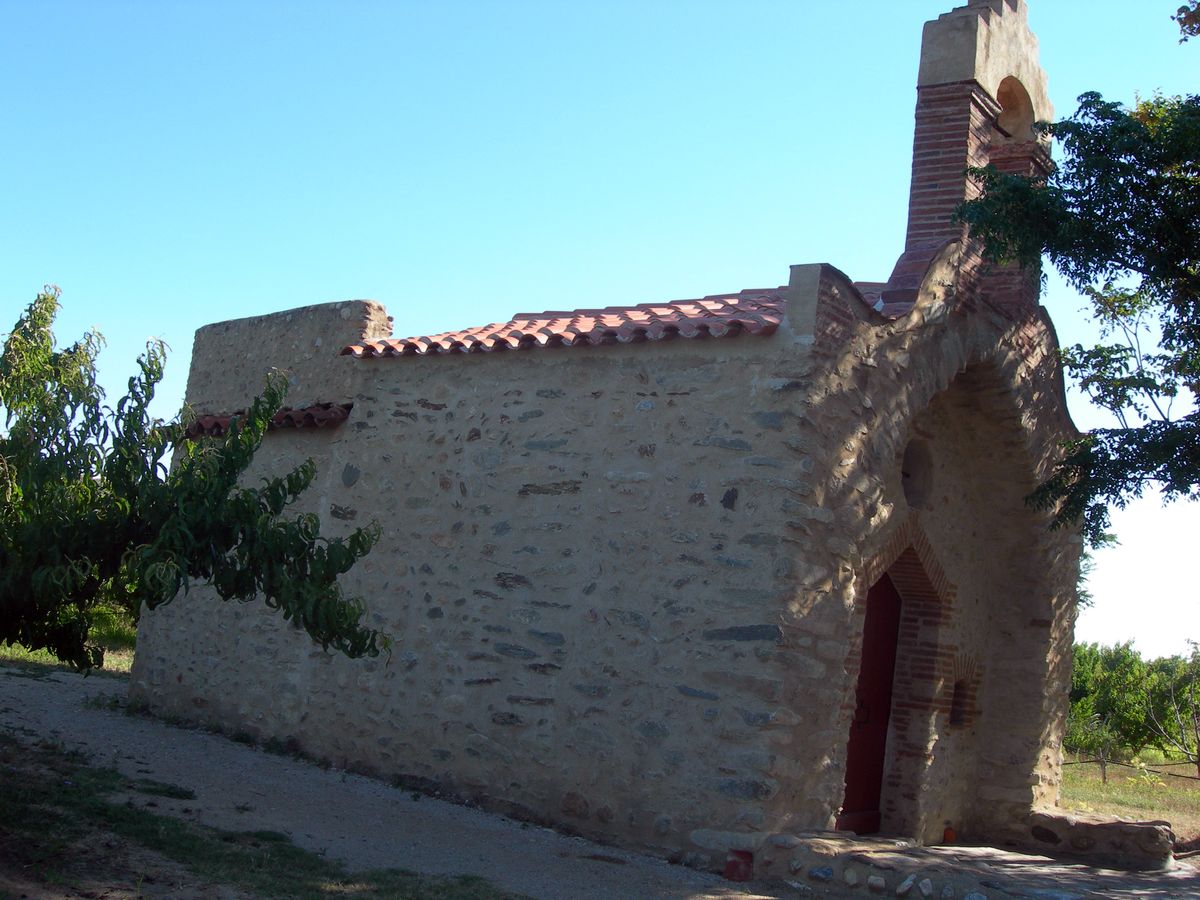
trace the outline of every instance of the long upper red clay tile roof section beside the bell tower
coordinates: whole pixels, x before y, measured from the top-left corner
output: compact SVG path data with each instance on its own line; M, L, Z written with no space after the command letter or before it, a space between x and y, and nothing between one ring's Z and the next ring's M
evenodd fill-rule
M349 356L427 356L535 347L582 347L666 341L674 337L770 335L784 320L786 288L715 294L701 300L608 306L571 312L523 312L509 322L440 335L362 341Z

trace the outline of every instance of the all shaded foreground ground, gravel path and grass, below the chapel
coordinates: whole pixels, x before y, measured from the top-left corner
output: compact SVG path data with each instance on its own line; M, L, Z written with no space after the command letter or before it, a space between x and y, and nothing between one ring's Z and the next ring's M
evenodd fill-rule
M131 715L124 708L126 689L124 678L84 678L53 667L0 664L0 900L241 900L264 893L421 900L874 895L863 886L850 889L799 875L791 886L737 884L269 754L220 734ZM137 820L142 836L128 840L128 830L96 827L95 817L86 815L72 816L72 809L86 810L78 802L72 806L74 794L64 786L82 778L97 780L96 796L103 804L115 804L126 820ZM14 815L12 805L6 810L5 803L22 793L24 811ZM53 797L43 799L47 794L58 797L56 808ZM55 809L67 815L55 820ZM145 815L150 812L162 818ZM22 816L41 830L16 821ZM47 828L43 820L53 827ZM200 876L197 872L221 870L204 869L178 850L172 858L151 850L167 845L155 835L145 836L148 821L160 832L193 823L191 830L203 830L210 844L212 835L216 841L248 844L242 857L248 865L270 856L276 869L286 859L289 872L308 866L316 875L302 892L254 888L252 894L246 884L258 882ZM308 853L298 853L295 847ZM53 868L47 866L48 858ZM854 862L853 853L850 859ZM1120 872L965 846L911 850L904 862L906 871L935 878L938 888L949 888L954 896L964 896L971 889L966 884L983 884L982 895L989 900L1200 898L1200 872L1187 864L1169 872ZM409 872L400 874L409 880L401 888L390 887L398 883L389 881L395 870ZM233 871L240 875L236 868ZM486 883L432 881L436 876L478 876ZM413 890L413 878L425 878L432 887L422 882ZM922 887L920 893L935 895L932 887L928 894Z

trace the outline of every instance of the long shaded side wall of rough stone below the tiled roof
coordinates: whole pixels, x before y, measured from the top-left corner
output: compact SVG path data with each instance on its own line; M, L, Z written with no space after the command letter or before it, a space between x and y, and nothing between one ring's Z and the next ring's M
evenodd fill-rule
M262 348L223 356L226 379L244 360L247 394L288 361L268 358L278 342L262 329L198 336ZM326 526L380 524L348 588L395 636L391 658L323 654L257 607L193 590L145 617L134 690L611 839L757 827L780 778L806 785L829 752L845 678L832 620L811 616L809 636L780 616L797 565L786 522L826 468L804 450L788 377L805 346L353 362L349 396L314 397L352 400L350 419L272 434L259 464L313 456L308 503ZM830 702L800 715L800 696ZM780 730L806 734L786 764L763 738ZM803 791L814 827L828 790Z

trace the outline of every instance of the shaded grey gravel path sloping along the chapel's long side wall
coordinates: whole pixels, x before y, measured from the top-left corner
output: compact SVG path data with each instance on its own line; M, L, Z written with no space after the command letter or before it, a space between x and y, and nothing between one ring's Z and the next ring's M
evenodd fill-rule
M522 826L324 770L227 738L104 708L125 682L70 672L30 677L0 666L0 730L60 742L97 766L196 793L155 798L156 811L229 830L275 830L350 870L403 868L479 875L508 890L553 900L781 898L659 859Z

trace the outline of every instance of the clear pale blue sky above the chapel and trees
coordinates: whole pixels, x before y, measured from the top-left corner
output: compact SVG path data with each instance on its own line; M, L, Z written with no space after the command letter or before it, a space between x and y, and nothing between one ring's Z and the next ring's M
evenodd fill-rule
M953 0L0 0L0 329L43 283L119 392L150 337L347 298L397 336L901 248L922 24ZM1196 90L1174 0L1030 0L1060 115ZM1044 302L1064 343L1080 299ZM1076 398L1078 400L1078 398ZM1100 422L1086 403L1076 422ZM1081 640L1200 638L1200 505L1135 504Z

